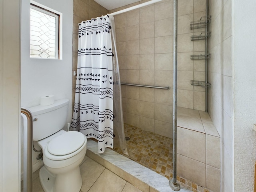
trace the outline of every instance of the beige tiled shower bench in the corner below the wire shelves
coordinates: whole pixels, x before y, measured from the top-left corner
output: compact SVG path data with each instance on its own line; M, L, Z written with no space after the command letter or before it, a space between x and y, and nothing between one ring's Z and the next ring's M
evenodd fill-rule
M220 191L220 136L207 112L178 108L177 174Z

